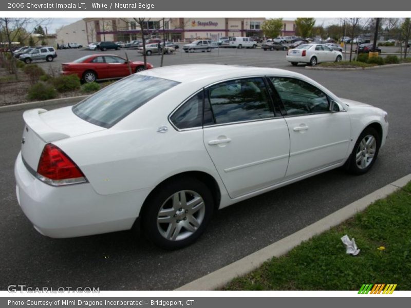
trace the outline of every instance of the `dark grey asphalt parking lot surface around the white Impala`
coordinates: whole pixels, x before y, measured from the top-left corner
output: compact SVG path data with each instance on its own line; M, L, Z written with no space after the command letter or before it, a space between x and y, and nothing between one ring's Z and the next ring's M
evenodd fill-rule
M51 65L88 53L90 51L59 50L57 61ZM106 53L124 54L124 50ZM136 50L127 53L131 60L142 59ZM409 66L364 71L306 70L303 65L291 67L285 61L284 51L260 49L177 52L165 55L164 60L165 65L221 63L301 72L340 97L385 109L390 123L388 140L368 174L356 177L340 169L332 170L222 209L198 242L169 252L129 232L73 239L51 239L38 234L15 198L13 165L20 149L22 111L0 113L0 290L6 290L10 284L172 290L411 173ZM160 56L152 55L148 61L158 67Z

